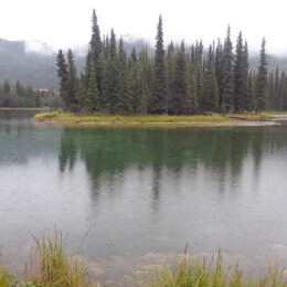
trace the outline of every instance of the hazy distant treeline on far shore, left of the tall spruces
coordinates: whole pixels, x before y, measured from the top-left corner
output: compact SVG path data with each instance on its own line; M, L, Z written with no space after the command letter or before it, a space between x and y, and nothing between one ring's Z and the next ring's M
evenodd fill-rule
M59 93L40 91L31 86L23 86L19 82L11 85L4 81L0 85L0 107L59 107Z

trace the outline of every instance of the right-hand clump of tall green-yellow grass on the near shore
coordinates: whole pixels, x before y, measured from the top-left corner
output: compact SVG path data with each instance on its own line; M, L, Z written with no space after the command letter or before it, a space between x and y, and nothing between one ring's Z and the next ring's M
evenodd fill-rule
M286 287L284 269L270 267L257 281L247 280L238 268L223 267L222 255L212 259L179 258L176 266L160 265L150 270L147 287Z

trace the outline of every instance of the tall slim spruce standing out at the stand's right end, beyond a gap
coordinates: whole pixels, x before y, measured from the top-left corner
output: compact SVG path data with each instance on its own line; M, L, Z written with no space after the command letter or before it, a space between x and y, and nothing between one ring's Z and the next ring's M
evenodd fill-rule
M258 66L256 83L256 110L265 110L267 104L267 57L265 52L265 38L263 38L261 49L261 64Z

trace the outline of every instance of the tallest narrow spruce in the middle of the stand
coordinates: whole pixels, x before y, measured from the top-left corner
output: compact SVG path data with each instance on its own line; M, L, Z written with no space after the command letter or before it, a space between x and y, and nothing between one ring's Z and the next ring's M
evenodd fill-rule
M159 17L157 45L153 68L153 84L150 113L164 114L167 111L167 83L166 83L166 66L164 66L164 47L163 47L163 32L162 18Z

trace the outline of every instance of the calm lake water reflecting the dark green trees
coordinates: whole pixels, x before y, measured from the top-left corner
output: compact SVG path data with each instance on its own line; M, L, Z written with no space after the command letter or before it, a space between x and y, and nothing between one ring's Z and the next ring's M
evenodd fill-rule
M11 268L31 233L54 226L99 279L187 242L245 266L287 265L287 126L63 126L33 114L0 110L0 253Z

